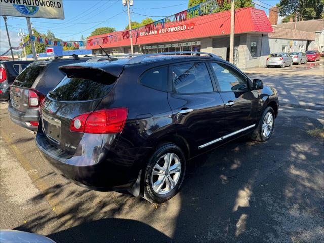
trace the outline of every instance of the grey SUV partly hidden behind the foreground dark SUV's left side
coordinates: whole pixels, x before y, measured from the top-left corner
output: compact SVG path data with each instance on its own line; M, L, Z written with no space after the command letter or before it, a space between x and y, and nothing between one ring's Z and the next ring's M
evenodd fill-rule
M8 113L10 119L25 128L37 131L39 105L47 93L65 76L59 66L85 62L88 58L52 59L28 65L10 87Z

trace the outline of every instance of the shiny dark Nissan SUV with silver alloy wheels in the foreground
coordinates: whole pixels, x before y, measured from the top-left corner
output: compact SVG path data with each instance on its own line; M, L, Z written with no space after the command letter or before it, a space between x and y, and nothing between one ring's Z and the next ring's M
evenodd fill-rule
M162 203L179 191L191 158L246 134L270 138L274 88L214 54L179 53L200 56L60 67L67 76L42 103L35 139L54 170L92 190Z

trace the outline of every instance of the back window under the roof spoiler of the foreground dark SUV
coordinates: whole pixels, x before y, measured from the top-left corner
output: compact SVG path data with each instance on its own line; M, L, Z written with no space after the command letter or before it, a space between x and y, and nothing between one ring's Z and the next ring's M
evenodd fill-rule
M98 78L98 77L96 77ZM112 77L113 78L113 77ZM102 80L105 80L102 77ZM114 80L113 80L114 81ZM49 96L58 101L82 101L98 99L109 93L113 83L105 84L100 80L90 80L83 77L65 77L50 92Z

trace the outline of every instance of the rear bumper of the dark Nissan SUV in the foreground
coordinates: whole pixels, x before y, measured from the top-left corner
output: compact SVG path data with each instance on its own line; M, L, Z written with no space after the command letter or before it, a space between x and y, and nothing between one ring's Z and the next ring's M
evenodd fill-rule
M41 127L36 145L53 170L66 179L96 191L130 190L135 184L140 173L134 166L138 149L115 151L109 141L116 134L84 134L84 141L71 155L52 146Z

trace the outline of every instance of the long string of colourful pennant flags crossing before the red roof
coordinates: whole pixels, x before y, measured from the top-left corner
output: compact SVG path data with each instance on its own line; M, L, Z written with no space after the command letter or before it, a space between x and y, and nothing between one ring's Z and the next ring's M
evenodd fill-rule
M46 45L79 48L84 46L98 46L98 45L118 42L118 41L122 41L123 39L129 39L130 36L132 36L132 38L137 38L139 33L157 31L159 29L163 29L165 27L165 24L169 22L181 23L194 17L211 14L213 13L215 8L229 2L230 0L209 0L204 3L197 4L187 10L157 20L153 23L135 29L125 30L117 34L111 34L104 37L88 39L87 41L66 41L65 42L65 41L54 41L47 38L31 36L25 43L21 44L18 47L13 47L12 49L18 50L24 48L25 46L30 44L31 39L38 43L45 43Z

